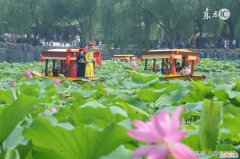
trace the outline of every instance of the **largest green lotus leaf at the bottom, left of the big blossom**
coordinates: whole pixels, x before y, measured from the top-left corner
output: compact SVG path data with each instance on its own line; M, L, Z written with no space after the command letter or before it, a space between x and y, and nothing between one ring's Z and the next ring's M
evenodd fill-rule
M109 124L102 130L80 125L69 128L41 118L24 134L33 142L33 157L39 159L98 159L129 140L125 129L116 124Z

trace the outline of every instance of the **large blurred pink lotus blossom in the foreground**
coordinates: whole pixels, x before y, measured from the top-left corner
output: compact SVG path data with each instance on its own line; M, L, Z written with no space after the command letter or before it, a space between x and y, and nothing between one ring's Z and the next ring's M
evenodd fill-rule
M138 148L133 152L133 157L165 159L172 156L175 159L198 159L191 148L180 142L186 135L186 132L179 130L181 111L182 107L178 107L170 118L165 110L161 110L150 121L134 121L137 129L128 130L128 135L149 145Z

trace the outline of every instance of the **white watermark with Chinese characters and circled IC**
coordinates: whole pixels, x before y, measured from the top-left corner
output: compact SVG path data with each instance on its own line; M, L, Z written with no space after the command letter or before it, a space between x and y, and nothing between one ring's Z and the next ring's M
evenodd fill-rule
M209 13L209 9L206 8L205 12L203 12L203 20L209 20L211 18L219 18L221 20L227 20L230 18L230 11L226 8L222 8L219 11L214 11L212 14Z

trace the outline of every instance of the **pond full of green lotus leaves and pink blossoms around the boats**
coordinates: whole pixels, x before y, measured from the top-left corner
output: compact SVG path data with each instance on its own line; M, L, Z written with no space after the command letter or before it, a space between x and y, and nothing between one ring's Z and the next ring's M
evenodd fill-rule
M239 66L204 59L207 80L159 81L140 62L104 61L106 81L80 85L24 76L42 63L0 63L0 158L238 158Z

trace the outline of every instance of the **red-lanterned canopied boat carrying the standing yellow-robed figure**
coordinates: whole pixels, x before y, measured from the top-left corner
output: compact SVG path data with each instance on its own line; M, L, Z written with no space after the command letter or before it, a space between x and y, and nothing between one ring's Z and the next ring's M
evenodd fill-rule
M85 49L86 50L86 49ZM57 77L64 77L64 80L74 82L85 81L104 81L103 78L89 77L78 78L76 77L76 58L79 55L79 49L50 49L41 51L39 61L44 63L42 72L32 71L33 76L46 77L54 79ZM101 56L99 51L94 51L94 58ZM74 68L75 66L75 68ZM95 62L94 62L94 71Z

